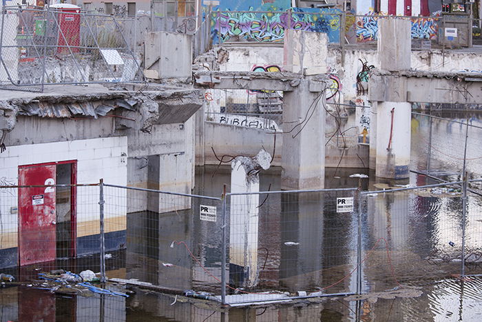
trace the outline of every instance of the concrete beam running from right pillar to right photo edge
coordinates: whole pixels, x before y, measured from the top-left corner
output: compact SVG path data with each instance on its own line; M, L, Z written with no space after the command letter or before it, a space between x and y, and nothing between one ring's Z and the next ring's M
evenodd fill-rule
M466 104L479 104L482 101L480 75L373 75L368 86L376 88L369 91L370 101Z

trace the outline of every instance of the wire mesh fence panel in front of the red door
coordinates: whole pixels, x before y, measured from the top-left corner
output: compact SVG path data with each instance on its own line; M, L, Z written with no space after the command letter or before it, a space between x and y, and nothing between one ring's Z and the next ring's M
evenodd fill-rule
M0 268L20 281L100 272L98 200L95 185L0 188Z

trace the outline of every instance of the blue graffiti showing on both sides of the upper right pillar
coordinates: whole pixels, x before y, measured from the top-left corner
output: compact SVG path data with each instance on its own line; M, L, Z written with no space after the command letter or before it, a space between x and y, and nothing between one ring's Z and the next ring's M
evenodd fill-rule
M375 41L378 33L378 19L384 13L368 12L364 17L356 19L357 42ZM412 18L412 39L435 39L439 30L439 18Z

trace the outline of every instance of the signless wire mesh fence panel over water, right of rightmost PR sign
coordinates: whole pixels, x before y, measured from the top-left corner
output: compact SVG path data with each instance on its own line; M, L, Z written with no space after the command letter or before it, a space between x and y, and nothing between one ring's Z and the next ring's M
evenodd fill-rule
M362 192L362 218L362 292L460 274L460 183Z

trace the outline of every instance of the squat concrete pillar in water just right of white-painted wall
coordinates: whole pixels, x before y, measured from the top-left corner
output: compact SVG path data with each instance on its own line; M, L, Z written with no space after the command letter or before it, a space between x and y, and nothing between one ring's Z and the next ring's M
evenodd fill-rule
M191 164L184 152L151 155L147 158L147 188L166 192L191 192ZM191 198L149 192L147 210L172 212L191 208Z

